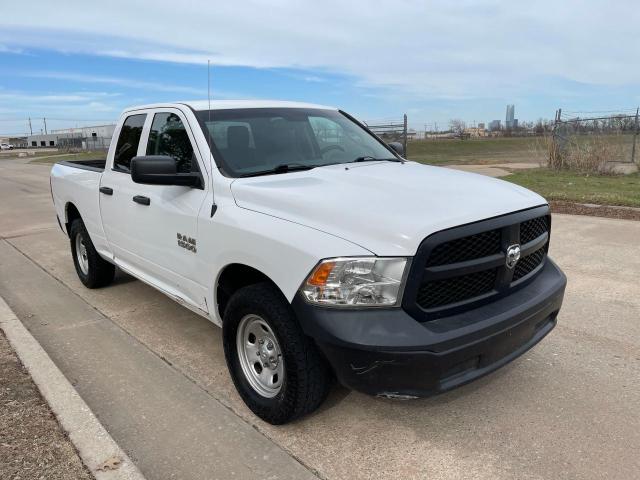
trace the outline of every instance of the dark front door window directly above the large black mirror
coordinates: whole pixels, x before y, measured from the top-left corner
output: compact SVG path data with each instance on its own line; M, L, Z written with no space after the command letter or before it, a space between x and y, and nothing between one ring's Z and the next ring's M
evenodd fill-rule
M155 114L149 131L147 155L173 157L179 173L198 171L193 145L182 120L175 113Z

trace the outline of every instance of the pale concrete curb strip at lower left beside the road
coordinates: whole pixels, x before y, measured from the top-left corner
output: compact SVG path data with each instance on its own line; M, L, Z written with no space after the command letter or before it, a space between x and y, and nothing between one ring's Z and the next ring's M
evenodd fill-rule
M97 480L144 480L2 297L0 328L93 476Z

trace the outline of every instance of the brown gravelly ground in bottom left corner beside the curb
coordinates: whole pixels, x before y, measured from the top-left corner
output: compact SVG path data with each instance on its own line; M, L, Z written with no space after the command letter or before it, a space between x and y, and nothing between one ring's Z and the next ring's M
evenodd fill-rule
M92 479L0 330L0 478Z

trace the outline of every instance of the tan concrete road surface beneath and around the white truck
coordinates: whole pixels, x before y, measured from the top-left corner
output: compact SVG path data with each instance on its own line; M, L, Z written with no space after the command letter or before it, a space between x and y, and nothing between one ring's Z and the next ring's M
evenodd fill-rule
M19 304L12 306L31 329L30 301L37 305L38 297L48 293L53 298L54 291L73 296L69 309L92 307L131 342L164 359L171 372L164 375L167 381L174 374L188 378L226 407L220 415L226 411L253 426L309 474L326 479L640 477L640 222L554 217L551 256L569 278L559 324L542 343L494 374L444 395L407 402L336 387L314 415L273 427L256 419L236 394L216 327L123 274L105 289L81 285L68 241L55 224L48 170L24 160L0 160L0 294L7 303ZM37 289L25 293L31 283L17 281L23 276L33 277ZM38 315L46 323L43 305L40 301ZM75 318L73 313L69 318ZM55 332L64 331L66 315L49 315L55 316L50 320ZM66 328L76 324L77 318ZM31 325L38 330L39 324ZM65 363L70 354L64 342L46 343L54 361ZM79 368L70 361L65 365L63 372ZM119 389L85 398L91 382L90 375L77 381L80 394L94 411L104 412L99 418L116 441L135 453L136 442L150 440L132 434L118 415L108 413L110 405L132 411L140 406L123 402L128 392ZM170 390L157 382L147 387L149 397L162 398ZM162 422L161 412L156 413L155 421ZM180 428L198 432L189 424L195 418L184 416ZM164 440L153 438L157 444ZM202 448L201 443L198 434L185 435L183 451L175 455ZM259 451L253 448L235 451L240 458L255 457ZM151 448L140 452L154 455ZM132 458L145 465L154 460ZM153 474L149 478L161 478L151 468L141 469ZM181 473L181 478L199 478L196 470Z

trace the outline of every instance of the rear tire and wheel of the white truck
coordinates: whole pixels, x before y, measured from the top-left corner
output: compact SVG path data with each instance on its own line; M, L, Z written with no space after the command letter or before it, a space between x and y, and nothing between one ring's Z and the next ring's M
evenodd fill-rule
M109 285L113 281L116 267L98 255L84 222L79 218L71 222L69 239L71 240L73 264L84 286L87 288L100 288ZM79 255L78 249L82 248L81 246L84 247L85 251L80 252Z

